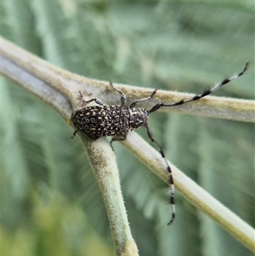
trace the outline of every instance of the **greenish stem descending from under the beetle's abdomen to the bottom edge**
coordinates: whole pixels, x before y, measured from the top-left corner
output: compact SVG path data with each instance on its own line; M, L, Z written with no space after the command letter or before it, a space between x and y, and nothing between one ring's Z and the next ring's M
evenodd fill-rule
M85 134L79 136L102 192L116 255L139 255L128 225L116 156L105 138L91 141Z

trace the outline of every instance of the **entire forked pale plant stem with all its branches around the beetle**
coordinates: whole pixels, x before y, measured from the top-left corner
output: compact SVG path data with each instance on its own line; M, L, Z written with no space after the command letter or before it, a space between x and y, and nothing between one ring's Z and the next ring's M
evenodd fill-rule
M1 72L3 75L18 82L22 87L36 94L49 105L52 105L65 120L71 116L72 109L77 108L81 104L78 100L79 94L77 94L79 90L82 90L82 94L93 94L106 103L118 104L119 102L118 95L108 86L109 82L92 80L71 74L68 71L63 71L14 46L12 43L8 43L3 38L1 54ZM138 95L139 98L143 98L151 93L149 89L120 85L116 85L116 87L122 89L128 97L130 96L129 100L138 99ZM52 95L54 95L53 98ZM169 103L187 99L188 97L190 97L190 94L160 91L157 93L156 99L151 100L152 102L149 102L148 105L141 106L150 108L157 102ZM70 101L66 100L66 98ZM188 108L184 105L178 108L166 108L164 111L179 111L207 117L255 122L254 101L252 100L207 97L198 103L190 105ZM141 162L144 162L161 179L166 181L167 174L165 167L162 165L161 156L150 145L147 145L143 139L139 139L137 136L135 133L129 134L128 140L123 141L122 144L126 145L129 151L132 151ZM82 143L88 152L88 159L91 162L94 174L99 181L104 196L105 207L110 219L113 239L116 245L116 252L123 255L133 255L134 253L128 254L128 252L132 252L133 250L137 253L137 249L127 224L127 215L123 208L122 199L120 199L122 195L116 163L112 163L114 156L112 155L111 148L108 144L105 144L105 139L99 139L99 141L91 143L87 139L84 139L85 137L84 134L81 135ZM105 164L109 162L107 163L106 169L102 167L101 162ZM197 208L200 208L202 212L207 213L212 219L215 219L229 234L235 236L246 247L254 250L252 228L234 213L224 208L217 200L201 189L200 186L196 185L177 168L173 167L171 163L170 165L173 168L173 175L178 191ZM113 173L110 173L110 171L113 171ZM107 174L107 177L105 177L105 174ZM104 185L105 179L108 180L108 184L113 185L114 190L118 191L116 197L114 196L115 193L109 190L109 186ZM115 205L115 207L111 207L112 205ZM120 222L121 224L116 225L116 216L119 216L118 223ZM120 233L119 230L121 230Z

